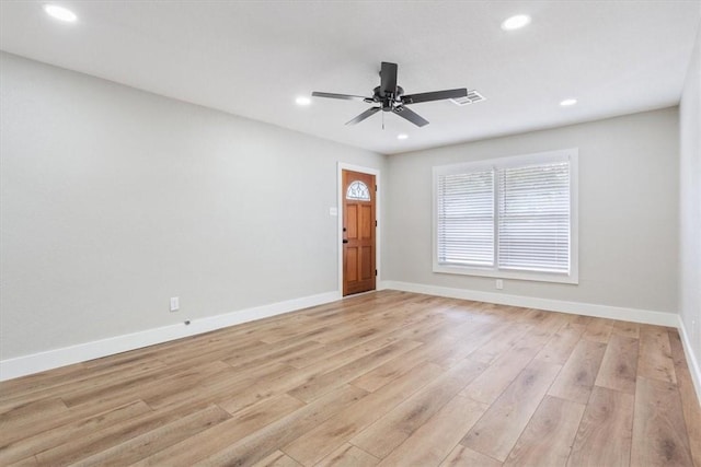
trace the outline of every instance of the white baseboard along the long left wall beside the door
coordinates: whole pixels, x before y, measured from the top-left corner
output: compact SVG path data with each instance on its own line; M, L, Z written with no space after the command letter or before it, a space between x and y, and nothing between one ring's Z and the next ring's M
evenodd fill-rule
M57 369L59 366L66 366L92 359L113 355L115 353L126 352L128 350L153 346L156 343L166 342L169 340L195 336L241 323L307 308L309 306L322 305L324 303L341 300L341 293L337 291L320 293L318 295L310 295L256 306L253 308L240 310L238 312L227 313L223 315L192 319L189 325L180 323L176 325L115 336L77 346L64 347L61 349L48 350L46 352L2 360L0 361L0 381L12 380L45 370Z

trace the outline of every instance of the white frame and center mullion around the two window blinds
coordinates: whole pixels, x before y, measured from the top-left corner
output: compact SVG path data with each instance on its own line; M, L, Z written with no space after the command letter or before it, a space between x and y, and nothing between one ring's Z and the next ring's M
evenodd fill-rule
M579 283L579 234L578 234L578 156L577 148L556 151L538 152L531 154L513 155L506 157L493 157L459 164L438 165L433 167L433 271L438 273L479 276L498 279L518 279L539 282ZM495 171L506 167L519 167L528 165L547 164L549 162L570 162L570 272L544 272L525 269L501 269L497 262L498 250L498 184L494 188L494 266L463 266L445 265L438 262L438 177L449 174L466 174L480 172L487 168Z

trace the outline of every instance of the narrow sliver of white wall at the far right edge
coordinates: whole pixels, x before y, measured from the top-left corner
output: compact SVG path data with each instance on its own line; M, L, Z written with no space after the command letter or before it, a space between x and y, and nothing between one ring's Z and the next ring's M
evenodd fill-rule
M681 162L679 295L681 322L701 364L701 28L679 105ZM701 367L697 367L701 377ZM701 395L701 380L697 381Z

